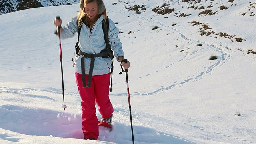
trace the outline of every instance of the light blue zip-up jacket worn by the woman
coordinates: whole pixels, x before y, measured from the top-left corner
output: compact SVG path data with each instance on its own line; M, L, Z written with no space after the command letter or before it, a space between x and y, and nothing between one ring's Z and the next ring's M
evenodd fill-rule
M98 11L102 11L102 10L98 10ZM106 44L105 44L104 33L102 29L103 18L104 18L103 15L100 16L100 18L98 18L92 30L90 30L90 28L85 24L82 24L82 28L79 36L79 44L78 44L82 52L85 52L88 54L98 54L101 52L101 50L105 48ZM122 43L118 38L119 29L115 26L114 22L110 18L108 20L109 20L109 29L108 29L109 44L111 45L111 48L114 51L114 56L118 60L118 56L124 57L124 52L122 50ZM65 39L65 38L73 37L76 34L76 32L78 32L76 21L77 21L77 16L72 18L70 22L66 24L66 26L62 27L61 38ZM74 59L75 71L80 74L82 73L81 57L82 56L80 55ZM84 61L85 61L84 62L85 74L89 74L91 58L84 58ZM110 72L111 67L112 67L112 60L110 58L96 57L92 75L94 76L94 75L108 74Z

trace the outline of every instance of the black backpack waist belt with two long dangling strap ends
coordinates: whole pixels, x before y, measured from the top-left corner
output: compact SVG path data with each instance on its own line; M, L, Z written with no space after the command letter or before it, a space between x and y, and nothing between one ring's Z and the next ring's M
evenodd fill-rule
M82 55L81 57L81 69L82 69L82 82L84 87L90 87L91 82L92 82L92 71L94 68L94 62L96 57L102 57L108 55L108 52L101 52L98 54L87 54L85 52L82 52L79 50L78 52L79 55ZM84 58L91 58L91 64L90 64L90 69L89 69L89 76L88 76L88 82L86 85L86 78L85 78L85 67L84 67Z

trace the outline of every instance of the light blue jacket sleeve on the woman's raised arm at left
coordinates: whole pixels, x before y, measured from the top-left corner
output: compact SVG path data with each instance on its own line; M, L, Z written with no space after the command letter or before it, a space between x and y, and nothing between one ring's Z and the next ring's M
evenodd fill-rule
M68 22L64 27L62 27L62 32L60 34L61 38L71 38L76 34L77 32L77 27L76 27L76 20L77 16L72 18L70 22Z

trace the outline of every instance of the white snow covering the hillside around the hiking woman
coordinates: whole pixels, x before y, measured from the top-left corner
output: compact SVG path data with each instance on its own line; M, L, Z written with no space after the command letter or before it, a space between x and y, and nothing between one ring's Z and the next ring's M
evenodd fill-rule
M152 11L164 3L175 11L165 15ZM117 22L131 63L135 144L256 144L256 55L247 54L256 50L255 2L108 0L105 5L109 18ZM136 14L127 9L134 5L145 5L146 10ZM198 15L206 9L188 8L193 5L211 5L206 9L217 12ZM126 78L118 74L117 61L110 93L113 130L100 128L97 141L83 139L72 67L76 36L61 41L67 106L62 108L59 41L53 20L59 15L66 24L78 10L79 4L74 4L0 15L1 144L132 143ZM182 13L191 15L179 17ZM202 24L193 26L192 21ZM206 32L215 33L200 36L203 24L211 28ZM154 26L159 28L152 30ZM235 36L216 35L220 32ZM218 59L209 60L212 55Z

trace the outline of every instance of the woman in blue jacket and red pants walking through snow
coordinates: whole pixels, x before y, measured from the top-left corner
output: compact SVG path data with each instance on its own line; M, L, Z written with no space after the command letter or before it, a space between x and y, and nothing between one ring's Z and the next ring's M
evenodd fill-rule
M66 26L60 28L61 38L70 38L74 36L81 26L78 44L80 51L82 54L99 54L106 47L102 30L102 21L106 22L107 19L104 3L102 0L80 0L80 9L78 16L72 18ZM118 62L121 62L124 69L128 69L130 63L124 59L122 43L118 38L119 30L115 27L112 20L108 20L109 44L111 45L111 48L114 51L114 56ZM61 19L54 19L54 25L61 27L61 23ZM112 113L114 110L109 99L112 60L111 58L95 57L90 87L84 87L82 80L82 66L84 66L85 69L85 79L88 80L92 58L84 57L84 62L82 62L81 66L82 57L82 55L78 56L75 65L76 83L82 99L82 130L84 139L97 140L99 136L99 123L96 116L95 102L102 115L101 121L105 123L105 126L111 127L112 122Z

